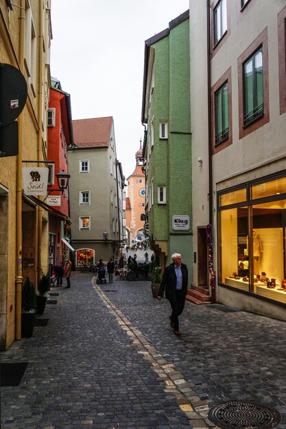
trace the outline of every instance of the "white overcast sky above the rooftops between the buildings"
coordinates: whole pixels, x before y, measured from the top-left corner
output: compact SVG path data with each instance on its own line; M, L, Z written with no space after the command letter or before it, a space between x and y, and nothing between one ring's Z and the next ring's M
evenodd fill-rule
M73 119L113 117L126 177L143 140L144 42L187 9L189 0L51 0L51 75Z

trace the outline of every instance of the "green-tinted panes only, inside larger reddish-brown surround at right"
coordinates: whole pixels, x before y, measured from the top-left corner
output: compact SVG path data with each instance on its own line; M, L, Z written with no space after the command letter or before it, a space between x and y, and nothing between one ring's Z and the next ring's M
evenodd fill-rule
M243 64L243 124L263 115L263 53L259 49Z

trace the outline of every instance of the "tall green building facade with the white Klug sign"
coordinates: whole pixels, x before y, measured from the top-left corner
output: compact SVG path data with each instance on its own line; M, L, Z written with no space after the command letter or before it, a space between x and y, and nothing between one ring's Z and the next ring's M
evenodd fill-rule
M145 41L146 215L160 267L182 254L192 278L189 11ZM145 126L146 126L145 125Z

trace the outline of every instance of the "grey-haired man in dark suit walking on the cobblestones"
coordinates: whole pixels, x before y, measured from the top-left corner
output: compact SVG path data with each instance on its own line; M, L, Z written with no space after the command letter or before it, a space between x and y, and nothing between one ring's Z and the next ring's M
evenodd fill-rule
M175 335L180 335L179 316L184 310L184 302L186 300L188 288L188 269L187 265L182 264L182 256L173 254L171 256L173 262L165 268L162 282L158 292L158 301L160 301L166 290L166 298L171 304L170 325L174 329Z

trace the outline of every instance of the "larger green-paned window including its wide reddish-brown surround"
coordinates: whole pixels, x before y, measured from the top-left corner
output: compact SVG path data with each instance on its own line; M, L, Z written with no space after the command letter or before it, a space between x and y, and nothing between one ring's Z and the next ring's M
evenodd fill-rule
M239 138L270 121L267 27L237 59Z

